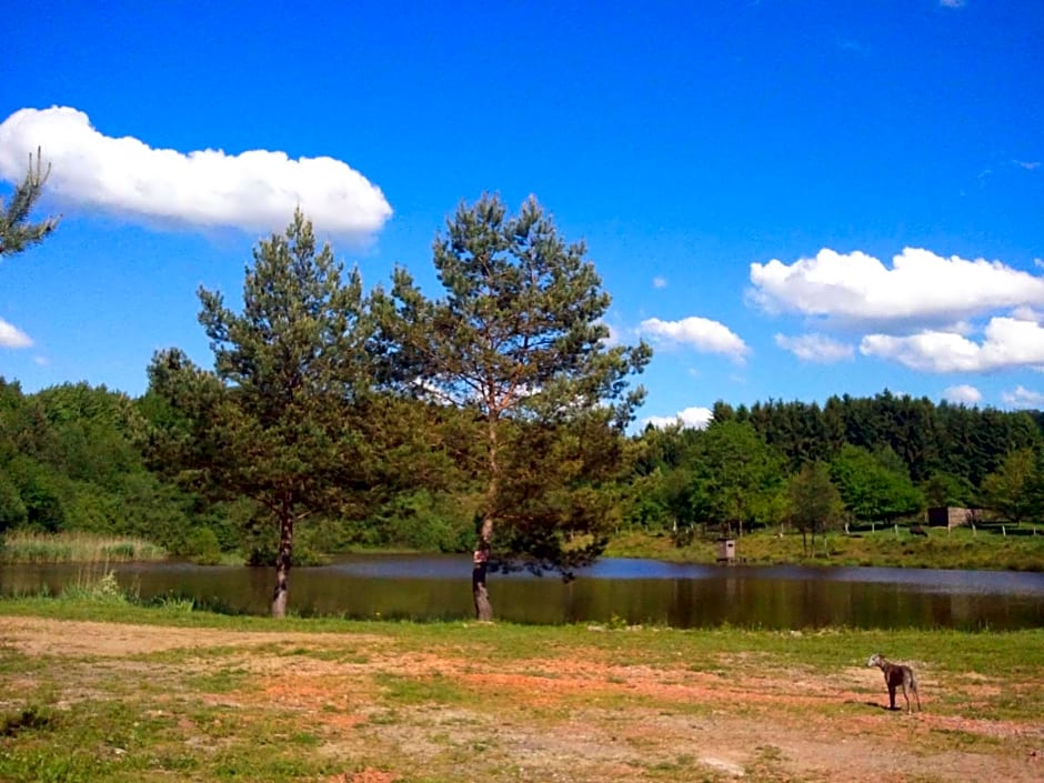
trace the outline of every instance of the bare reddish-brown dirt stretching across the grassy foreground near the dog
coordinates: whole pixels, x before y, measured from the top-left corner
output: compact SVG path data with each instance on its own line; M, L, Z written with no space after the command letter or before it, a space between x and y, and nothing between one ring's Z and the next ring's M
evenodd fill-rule
M32 618L0 618L0 644L68 660L70 682L82 676L84 687L89 677L78 672L88 666L133 677L143 660L149 676L171 682L188 671L245 672L233 687L200 697L307 723L323 737L315 752L344 760L329 783L1044 780L1044 719L933 712L941 683L931 675L921 686L924 710L906 714L884 709L881 674L865 667L806 679L747 667L730 677L682 662L611 664L596 654L563 661L534 651L490 662L463 650L409 651L382 635ZM148 659L175 652L188 657ZM962 682L970 705L995 695L972 673Z

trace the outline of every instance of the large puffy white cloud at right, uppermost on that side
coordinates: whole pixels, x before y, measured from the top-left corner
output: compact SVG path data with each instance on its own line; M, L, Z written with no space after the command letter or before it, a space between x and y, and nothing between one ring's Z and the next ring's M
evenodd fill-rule
M998 261L944 259L906 248L892 268L824 248L792 264L751 264L751 300L767 312L901 325L942 323L997 308L1044 304L1044 278Z

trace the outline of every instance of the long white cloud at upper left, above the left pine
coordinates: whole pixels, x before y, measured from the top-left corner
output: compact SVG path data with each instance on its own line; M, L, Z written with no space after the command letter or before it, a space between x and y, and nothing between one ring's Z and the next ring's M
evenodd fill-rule
M38 147L56 200L129 220L280 231L300 205L317 229L363 240L392 213L377 185L333 158L152 149L103 135L64 107L22 109L0 124L0 178L21 180Z

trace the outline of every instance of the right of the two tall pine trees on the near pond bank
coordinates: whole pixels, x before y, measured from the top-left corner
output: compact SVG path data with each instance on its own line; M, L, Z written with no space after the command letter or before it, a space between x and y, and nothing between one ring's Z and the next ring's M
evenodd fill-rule
M610 297L582 242L566 244L535 199L509 217L496 195L462 203L433 245L445 295L396 270L388 322L400 377L470 412L462 452L482 483L472 588L490 620L492 562L570 574L604 548L605 482L623 464L623 428L644 391L628 377L651 351L610 347Z

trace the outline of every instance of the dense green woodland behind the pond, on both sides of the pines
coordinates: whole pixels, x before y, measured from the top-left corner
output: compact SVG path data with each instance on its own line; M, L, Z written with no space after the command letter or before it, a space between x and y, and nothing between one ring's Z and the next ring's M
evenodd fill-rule
M399 453L373 453L372 465L352 465L374 482L354 488L359 513L309 520L299 561L358 546L471 549L474 481L422 448L471 422L448 421L450 410L432 420L425 403L409 404L416 410L403 420L431 432L411 431L419 443L403 438ZM0 381L0 528L139 535L177 554L238 551L270 562L277 540L255 502L212 498L152 463L153 430L165 415L151 392L135 400L79 383L24 394L17 382ZM1040 422L1038 413L936 405L889 392L831 398L823 406L720 403L705 430L650 428L625 439L630 470L598 491L616 529L710 525L716 533L721 524L800 524L787 491L803 466L820 462L842 499L840 523L920 520L927 505L982 506L1005 520L1038 521Z

